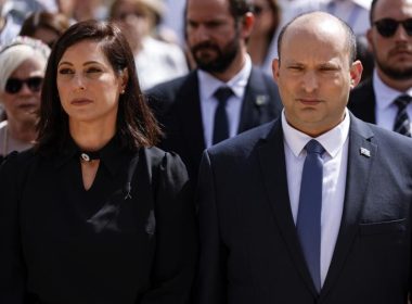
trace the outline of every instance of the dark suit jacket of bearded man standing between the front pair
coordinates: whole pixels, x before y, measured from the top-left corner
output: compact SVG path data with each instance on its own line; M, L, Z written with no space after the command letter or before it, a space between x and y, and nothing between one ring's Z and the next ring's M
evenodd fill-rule
M197 73L156 86L147 92L149 102L166 134L160 142L177 152L189 175L197 178L202 152L206 149L201 113ZM268 123L281 113L278 86L257 68L252 68L242 104L237 132Z

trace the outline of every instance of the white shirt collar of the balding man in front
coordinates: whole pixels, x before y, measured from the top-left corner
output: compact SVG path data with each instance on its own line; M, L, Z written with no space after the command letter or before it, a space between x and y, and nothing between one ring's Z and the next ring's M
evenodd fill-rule
M285 111L282 111L282 128L285 143L291 148L295 156L299 156L305 145L313 138L292 127L285 117ZM317 137L327 154L333 159L337 155L339 150L344 147L346 139L349 135L350 116L347 109L345 109L345 118L333 129Z

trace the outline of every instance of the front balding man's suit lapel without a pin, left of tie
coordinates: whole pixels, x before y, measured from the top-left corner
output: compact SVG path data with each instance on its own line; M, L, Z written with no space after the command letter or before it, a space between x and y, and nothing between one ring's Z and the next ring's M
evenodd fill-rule
M274 127L265 141L259 148L259 163L274 220L279 226L297 271L308 289L313 294L317 294L304 255L301 254L292 216L281 119L274 122Z

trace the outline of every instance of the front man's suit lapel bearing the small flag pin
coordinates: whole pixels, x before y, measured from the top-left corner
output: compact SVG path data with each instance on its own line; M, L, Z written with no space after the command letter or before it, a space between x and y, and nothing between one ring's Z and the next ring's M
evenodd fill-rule
M370 172L377 151L377 145L370 140L373 132L368 125L351 114L350 122L344 212L334 255L321 291L321 297L324 297L336 283L345 266L358 231L365 193L368 193Z

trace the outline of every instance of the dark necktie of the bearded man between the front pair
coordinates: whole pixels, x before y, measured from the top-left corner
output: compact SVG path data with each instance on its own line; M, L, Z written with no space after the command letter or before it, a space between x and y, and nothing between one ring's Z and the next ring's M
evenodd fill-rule
M220 87L215 92L215 98L218 100L218 106L215 112L215 126L214 126L214 139L213 144L216 144L227 138L229 138L229 119L226 112L226 105L228 99L233 94L233 91L229 87Z

